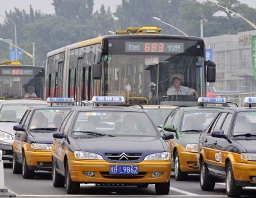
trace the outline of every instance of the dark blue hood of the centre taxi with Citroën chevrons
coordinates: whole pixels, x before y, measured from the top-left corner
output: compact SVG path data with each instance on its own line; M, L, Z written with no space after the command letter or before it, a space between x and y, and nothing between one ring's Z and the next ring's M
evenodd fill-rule
M141 158L152 153L168 151L159 137L99 137L92 139L76 138L81 151L97 153L109 161L106 153L141 153Z

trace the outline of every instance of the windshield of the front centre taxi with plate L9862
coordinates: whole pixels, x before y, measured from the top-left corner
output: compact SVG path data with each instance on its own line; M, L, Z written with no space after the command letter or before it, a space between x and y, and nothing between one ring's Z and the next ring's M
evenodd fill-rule
M74 135L90 133L106 135L156 136L157 131L143 112L79 112L74 123Z

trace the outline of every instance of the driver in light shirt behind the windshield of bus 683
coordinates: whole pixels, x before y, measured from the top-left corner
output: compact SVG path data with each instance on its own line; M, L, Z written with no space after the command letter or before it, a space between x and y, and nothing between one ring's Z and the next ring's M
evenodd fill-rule
M182 82L182 76L181 75L172 75L170 78L172 81L172 86L168 88L167 95L188 95L188 96L197 96L197 93L195 89L191 89L185 86L181 86L180 83Z

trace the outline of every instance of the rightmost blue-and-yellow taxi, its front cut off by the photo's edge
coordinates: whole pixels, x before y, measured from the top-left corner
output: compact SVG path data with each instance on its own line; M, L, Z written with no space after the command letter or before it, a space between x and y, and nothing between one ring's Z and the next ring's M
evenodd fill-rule
M256 98L244 103L249 107L222 109L200 135L202 190L213 190L216 179L225 180L228 197L240 197L243 187L256 187Z

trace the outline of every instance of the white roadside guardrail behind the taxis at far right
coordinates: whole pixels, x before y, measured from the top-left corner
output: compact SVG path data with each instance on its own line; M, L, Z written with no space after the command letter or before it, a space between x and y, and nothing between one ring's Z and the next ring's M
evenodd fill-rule
M252 93L217 93L217 97L226 98L228 102L236 102L240 107L244 107L245 97L256 97L256 92Z

